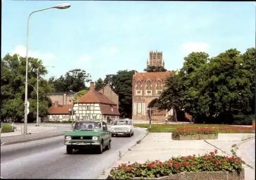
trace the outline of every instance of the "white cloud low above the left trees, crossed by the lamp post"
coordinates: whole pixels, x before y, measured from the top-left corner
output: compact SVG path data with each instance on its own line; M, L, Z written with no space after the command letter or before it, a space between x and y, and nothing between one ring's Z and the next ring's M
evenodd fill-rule
M15 47L11 55L18 54L19 56L26 57L26 47L23 45L18 45ZM52 53L40 53L38 51L29 50L28 57L38 58L45 61L50 61L56 59Z

